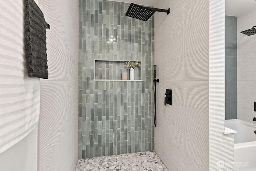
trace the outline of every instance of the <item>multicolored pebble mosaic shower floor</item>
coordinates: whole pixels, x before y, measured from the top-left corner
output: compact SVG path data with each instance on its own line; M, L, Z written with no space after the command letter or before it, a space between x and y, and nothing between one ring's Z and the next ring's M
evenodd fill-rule
M168 171L154 151L78 160L75 171Z

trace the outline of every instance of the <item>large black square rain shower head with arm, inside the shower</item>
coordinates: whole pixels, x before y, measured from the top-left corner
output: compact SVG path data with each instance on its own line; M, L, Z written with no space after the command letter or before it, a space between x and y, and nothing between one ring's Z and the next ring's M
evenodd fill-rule
M139 20L147 21L156 11L166 12L167 14L169 14L170 8L168 10L162 10L158 8L149 8L131 3L125 15Z

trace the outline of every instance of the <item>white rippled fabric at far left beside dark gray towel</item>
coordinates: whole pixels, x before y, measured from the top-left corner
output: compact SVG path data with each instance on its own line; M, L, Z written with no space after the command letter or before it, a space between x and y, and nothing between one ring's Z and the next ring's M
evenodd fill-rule
M0 4L0 153L28 135L40 113L40 79L28 78L24 60L22 6Z

